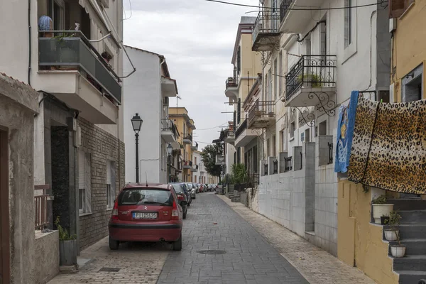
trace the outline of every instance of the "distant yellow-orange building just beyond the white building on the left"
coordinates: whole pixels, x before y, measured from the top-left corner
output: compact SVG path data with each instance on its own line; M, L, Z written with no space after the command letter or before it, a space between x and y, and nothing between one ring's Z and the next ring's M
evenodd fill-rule
M181 145L180 157L178 158L177 168L180 168L178 180L182 182L192 182L192 149L193 146L192 131L195 130L195 122L188 115L185 107L170 107L169 118L173 121L179 132L178 142ZM196 150L196 149L195 149Z

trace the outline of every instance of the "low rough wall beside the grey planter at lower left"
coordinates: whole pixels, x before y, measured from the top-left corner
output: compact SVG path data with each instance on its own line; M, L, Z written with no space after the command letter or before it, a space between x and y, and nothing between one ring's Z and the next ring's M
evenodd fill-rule
M48 283L59 273L59 232L35 231L34 283Z

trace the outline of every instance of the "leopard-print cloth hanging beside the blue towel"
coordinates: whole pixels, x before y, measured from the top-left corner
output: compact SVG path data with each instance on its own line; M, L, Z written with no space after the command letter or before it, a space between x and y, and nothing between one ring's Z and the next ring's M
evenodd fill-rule
M426 100L388 104L359 97L348 180L426 194Z

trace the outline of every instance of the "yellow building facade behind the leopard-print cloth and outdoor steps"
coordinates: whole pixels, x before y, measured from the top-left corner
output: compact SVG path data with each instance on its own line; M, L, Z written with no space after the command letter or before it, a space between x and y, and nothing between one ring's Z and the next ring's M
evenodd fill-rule
M392 60L390 102L426 99L426 0L390 3ZM378 51L380 53L380 50ZM396 284L400 275L393 271L388 242L383 241L383 226L371 223L371 200L377 195L403 198L398 192L386 192L339 180L338 257L364 271L377 283ZM421 196L426 200L426 195ZM420 236L419 236L420 237Z

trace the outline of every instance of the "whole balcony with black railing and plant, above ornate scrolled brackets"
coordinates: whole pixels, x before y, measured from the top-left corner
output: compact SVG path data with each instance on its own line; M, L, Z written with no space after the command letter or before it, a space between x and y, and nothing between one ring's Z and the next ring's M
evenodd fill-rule
M285 76L285 107L314 107L335 102L336 55L302 55Z

